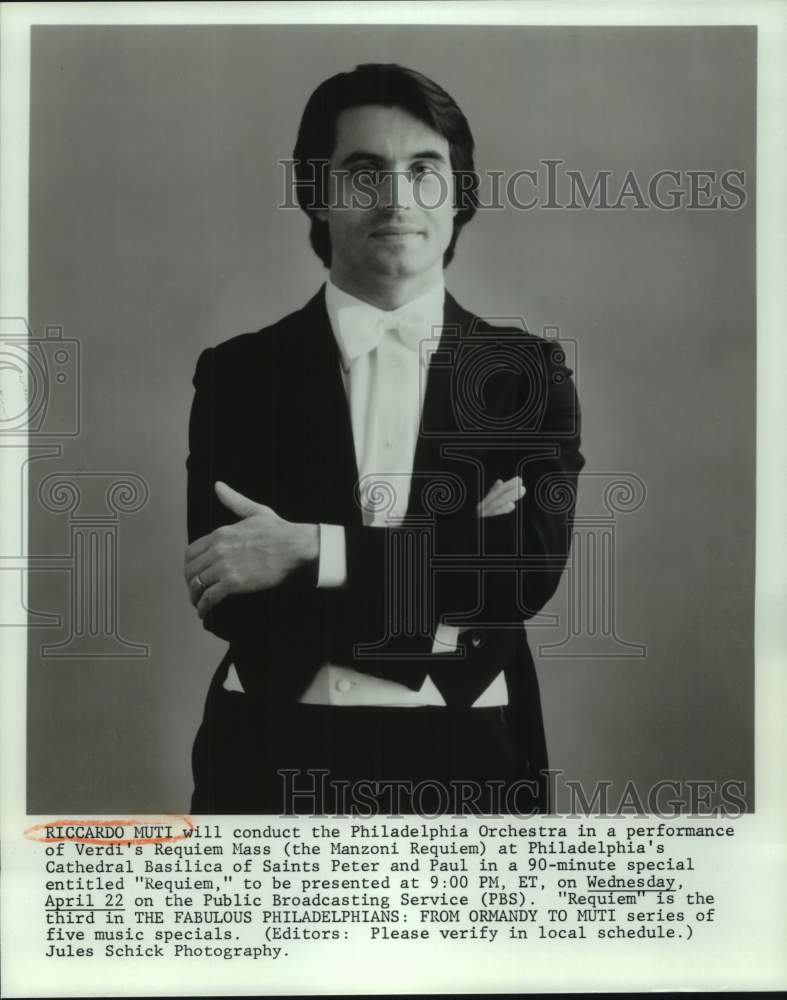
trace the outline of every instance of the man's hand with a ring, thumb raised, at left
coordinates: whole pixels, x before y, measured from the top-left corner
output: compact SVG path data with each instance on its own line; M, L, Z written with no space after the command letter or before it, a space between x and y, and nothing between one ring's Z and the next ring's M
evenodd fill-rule
M229 594L269 590L319 556L319 527L293 524L217 482L216 496L243 520L217 528L186 549L183 574L200 618Z

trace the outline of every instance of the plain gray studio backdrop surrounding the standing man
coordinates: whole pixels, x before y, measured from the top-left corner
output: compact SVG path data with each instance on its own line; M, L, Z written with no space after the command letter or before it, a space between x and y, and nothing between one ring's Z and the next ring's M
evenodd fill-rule
M617 630L644 658L538 657L552 766L590 785L753 776L754 148L749 28L36 27L30 321L81 343L82 430L30 464L30 551L68 548L35 501L54 471L134 473L119 627L146 659L52 659L30 630L28 810L188 808L224 644L181 577L200 350L303 304L325 271L280 211L277 160L323 79L395 61L465 111L481 170L739 169L740 211L481 212L447 284L485 316L579 345L588 473L647 501L617 524ZM599 513L588 479L579 513ZM29 604L68 614L63 572ZM565 608L567 586L547 609ZM531 643L558 641L561 628ZM752 801L752 800L750 800Z

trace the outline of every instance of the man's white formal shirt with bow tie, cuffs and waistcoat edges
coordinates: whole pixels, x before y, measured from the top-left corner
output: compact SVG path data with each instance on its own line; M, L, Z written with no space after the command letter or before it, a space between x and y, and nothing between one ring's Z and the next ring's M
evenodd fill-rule
M363 523L401 524L407 512L421 409L426 393L430 347L443 325L442 281L399 309L384 311L328 280L325 305L339 348L350 409ZM479 499L481 499L479 497ZM340 587L347 578L344 528L320 525L318 587ZM459 629L438 626L432 653L456 649ZM243 688L230 672L225 688ZM326 663L301 696L304 704L417 707L445 705L430 677L418 691ZM508 703L503 673L474 702L482 708Z

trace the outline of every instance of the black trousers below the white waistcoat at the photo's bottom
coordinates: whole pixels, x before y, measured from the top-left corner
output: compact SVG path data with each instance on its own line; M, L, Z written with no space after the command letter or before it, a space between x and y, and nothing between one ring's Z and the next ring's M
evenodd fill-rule
M194 742L195 815L547 811L505 708L272 706L223 677Z

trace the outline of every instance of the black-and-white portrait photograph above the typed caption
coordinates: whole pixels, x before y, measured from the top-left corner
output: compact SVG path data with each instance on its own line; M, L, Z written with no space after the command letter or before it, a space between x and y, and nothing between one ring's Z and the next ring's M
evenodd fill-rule
M29 811L754 808L755 79L32 28Z

